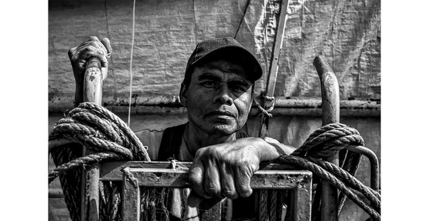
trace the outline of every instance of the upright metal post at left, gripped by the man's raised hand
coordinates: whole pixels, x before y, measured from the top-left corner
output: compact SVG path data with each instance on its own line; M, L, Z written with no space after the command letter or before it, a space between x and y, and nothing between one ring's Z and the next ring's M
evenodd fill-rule
M101 104L103 76L100 59L91 57L86 65L84 74L84 102ZM82 155L89 155L89 151L83 146ZM81 220L98 221L100 199L100 170L99 165L84 166L82 168L82 195L81 195Z

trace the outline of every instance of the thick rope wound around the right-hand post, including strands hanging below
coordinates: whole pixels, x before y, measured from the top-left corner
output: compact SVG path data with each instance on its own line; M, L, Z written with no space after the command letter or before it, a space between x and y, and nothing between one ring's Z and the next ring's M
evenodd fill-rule
M348 145L364 145L363 138L358 131L345 124L327 124L311 133L304 144L300 148L297 148L291 155L282 155L277 160L277 163L301 166L322 178L322 180L336 186L341 191L338 197L338 213L340 213L346 196L348 196L369 215L379 220L380 194L363 185L354 177L360 163L361 155L346 151L344 148ZM341 167L318 159L329 157L339 151L345 151L343 154L340 153L340 155L345 155L340 160ZM365 195L365 198L369 200L370 204L375 206L375 209L360 199L351 189L355 189ZM320 191L319 185L316 192L320 193ZM312 214L314 218L316 213L320 211L320 194L316 194L313 202Z

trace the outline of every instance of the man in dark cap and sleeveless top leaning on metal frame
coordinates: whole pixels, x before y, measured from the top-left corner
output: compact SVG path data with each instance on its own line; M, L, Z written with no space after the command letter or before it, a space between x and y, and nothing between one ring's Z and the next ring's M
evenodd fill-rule
M96 37L69 50L76 79L76 104L82 102L86 60L98 57L106 76L110 54L109 40L99 41ZM235 39L201 41L188 60L180 90L189 122L161 132L136 132L149 146L152 160L174 157L193 162L189 179L194 193L185 202L189 206L197 206L204 198L235 200L250 196L250 177L259 164L294 151L277 140L248 137L241 131L252 104L254 83L261 76L262 68L255 56ZM179 212L173 215L189 217Z

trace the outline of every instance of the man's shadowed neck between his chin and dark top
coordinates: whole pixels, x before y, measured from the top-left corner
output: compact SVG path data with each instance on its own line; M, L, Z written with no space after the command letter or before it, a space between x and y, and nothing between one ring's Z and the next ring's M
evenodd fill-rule
M210 146L215 144L222 144L235 140L235 133L231 135L212 135L201 131L195 124L189 122L185 127L185 133L183 134L188 151L190 151L192 157L197 153L198 149L204 146Z

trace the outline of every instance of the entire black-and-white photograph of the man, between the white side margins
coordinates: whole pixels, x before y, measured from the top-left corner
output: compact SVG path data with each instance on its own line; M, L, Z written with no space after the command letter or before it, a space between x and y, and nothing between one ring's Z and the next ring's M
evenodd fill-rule
M48 220L380 220L381 1L48 1Z

